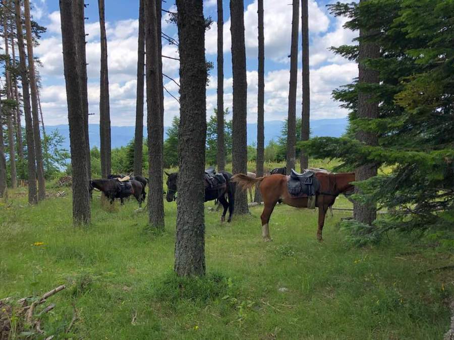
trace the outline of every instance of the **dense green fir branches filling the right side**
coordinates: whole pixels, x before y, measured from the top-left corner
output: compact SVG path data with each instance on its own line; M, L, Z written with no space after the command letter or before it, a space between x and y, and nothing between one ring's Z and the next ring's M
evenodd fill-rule
M350 168L392 167L362 184L379 208L398 210L377 220L377 228L452 228L445 217L454 209L454 3L370 0L328 7L350 18L348 28L378 32L361 39L380 46L379 58L362 61L378 71L380 83L336 89L333 97L350 110L348 134L300 145L314 157L340 158ZM355 46L333 50L351 60L358 57ZM377 119L358 119L360 92L380 103ZM378 145L359 143L358 131L376 133Z

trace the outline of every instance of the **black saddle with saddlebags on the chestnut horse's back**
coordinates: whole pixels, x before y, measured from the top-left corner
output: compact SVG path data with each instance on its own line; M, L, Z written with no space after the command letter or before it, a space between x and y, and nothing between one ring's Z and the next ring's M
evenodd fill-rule
M306 170L298 173L294 169L287 176L287 189L292 198L308 197L307 208L315 208L315 194L320 189L320 182L314 176L315 172Z

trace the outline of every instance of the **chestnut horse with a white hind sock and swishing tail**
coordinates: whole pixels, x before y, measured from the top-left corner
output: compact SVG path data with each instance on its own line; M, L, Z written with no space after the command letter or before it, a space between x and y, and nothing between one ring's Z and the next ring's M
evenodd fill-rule
M336 197L341 193L352 191L354 186L350 184L355 181L354 172L326 173L316 172L314 176L320 182L320 189L316 192L315 206L318 207L318 229L317 239L323 241L322 231L325 223L326 211L334 204ZM259 183L264 208L261 215L262 237L265 242L271 241L269 236L269 218L276 203L281 200L283 203L295 208L307 208L308 198L292 198L287 189L287 176L269 175L258 178L251 178L244 174L237 174L232 181L238 183L242 189L247 189Z

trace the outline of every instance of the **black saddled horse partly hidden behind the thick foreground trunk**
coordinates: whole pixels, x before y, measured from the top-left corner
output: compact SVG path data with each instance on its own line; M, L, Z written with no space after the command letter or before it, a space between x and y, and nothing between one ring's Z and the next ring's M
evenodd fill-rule
M167 175L167 195L165 198L167 199L167 202L172 202L176 199L178 172L169 174L164 171L164 173ZM224 207L221 222L225 221L225 214L227 213L228 209L229 219L227 220L227 222L231 222L235 205L236 183L231 181L231 173L226 171L219 171L218 174L221 174L225 181L219 185L216 185L214 188L210 186L208 179L205 178L205 202L217 199L222 204L222 207ZM226 199L225 195L227 195L228 199Z

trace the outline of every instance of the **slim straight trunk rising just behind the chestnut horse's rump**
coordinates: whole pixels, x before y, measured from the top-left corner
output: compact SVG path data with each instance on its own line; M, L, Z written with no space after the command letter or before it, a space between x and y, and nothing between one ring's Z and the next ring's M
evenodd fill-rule
M265 153L265 132L264 132L264 94L265 94L265 47L263 34L263 0L258 0L258 93L257 93L257 177L263 176L263 162ZM254 201L260 203L262 197L260 190L256 188Z

